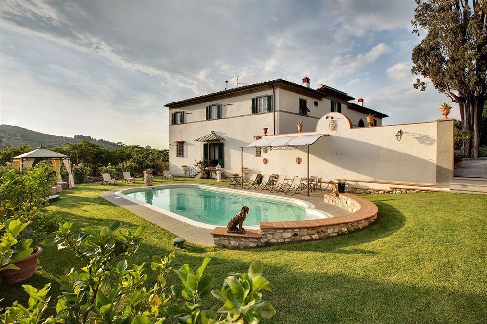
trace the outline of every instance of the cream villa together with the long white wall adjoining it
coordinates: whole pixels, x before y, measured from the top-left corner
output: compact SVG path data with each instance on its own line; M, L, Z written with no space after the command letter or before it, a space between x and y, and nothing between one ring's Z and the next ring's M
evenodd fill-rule
M277 79L166 104L170 173L206 158L226 174L343 179L352 192L449 190L454 119L383 126L362 98L309 86Z

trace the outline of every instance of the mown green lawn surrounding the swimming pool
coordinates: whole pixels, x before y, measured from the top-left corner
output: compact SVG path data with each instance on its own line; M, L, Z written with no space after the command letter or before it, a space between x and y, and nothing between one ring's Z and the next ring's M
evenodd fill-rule
M176 179L181 181L187 180ZM161 182L167 183L157 181ZM212 180L200 182L216 184ZM123 186L127 185L119 184L118 188ZM172 251L174 235L98 197L109 189L113 186L78 185L63 191L62 199L49 208L79 227L100 229L116 221L131 229L146 225L136 262L150 262L152 255ZM487 196L422 193L364 197L379 207L379 215L361 231L252 251L187 244L186 250L177 252L176 266L189 263L195 267L204 257L211 257L207 272L215 276L213 285L218 288L228 272L244 272L251 261L261 259L273 289L265 299L277 311L264 323L485 323ZM40 287L51 281L51 296L56 296L57 277L78 266L72 252L44 248L39 267L27 283ZM150 276L149 286L153 280ZM169 283L175 281L172 275ZM25 301L24 296L20 286L0 284L3 306L16 299ZM55 300L51 301L53 306Z

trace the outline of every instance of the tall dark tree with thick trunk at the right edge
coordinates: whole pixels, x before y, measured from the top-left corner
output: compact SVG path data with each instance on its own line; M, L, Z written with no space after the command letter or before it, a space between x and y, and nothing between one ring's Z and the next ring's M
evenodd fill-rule
M412 51L412 72L458 103L462 127L472 134L465 156L478 157L487 100L487 0L416 3L414 33L425 31L426 36ZM424 91L428 83L418 78L414 87Z

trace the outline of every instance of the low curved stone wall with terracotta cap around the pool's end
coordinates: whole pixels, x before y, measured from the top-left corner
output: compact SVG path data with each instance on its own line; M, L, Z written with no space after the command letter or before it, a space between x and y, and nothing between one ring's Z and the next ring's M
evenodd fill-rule
M326 203L348 210L351 214L306 221L259 222L260 230L228 233L225 227L211 232L214 244L232 249L244 249L269 244L327 239L362 229L377 218L378 208L370 201L350 193L338 197L323 194Z

